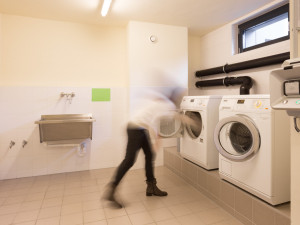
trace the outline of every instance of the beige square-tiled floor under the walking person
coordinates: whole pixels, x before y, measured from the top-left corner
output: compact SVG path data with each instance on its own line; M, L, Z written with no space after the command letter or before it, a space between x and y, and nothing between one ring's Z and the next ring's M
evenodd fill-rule
M147 197L143 169L131 170L118 196L125 207L101 200L115 169L0 181L1 225L241 225L165 167L155 169L167 197Z

